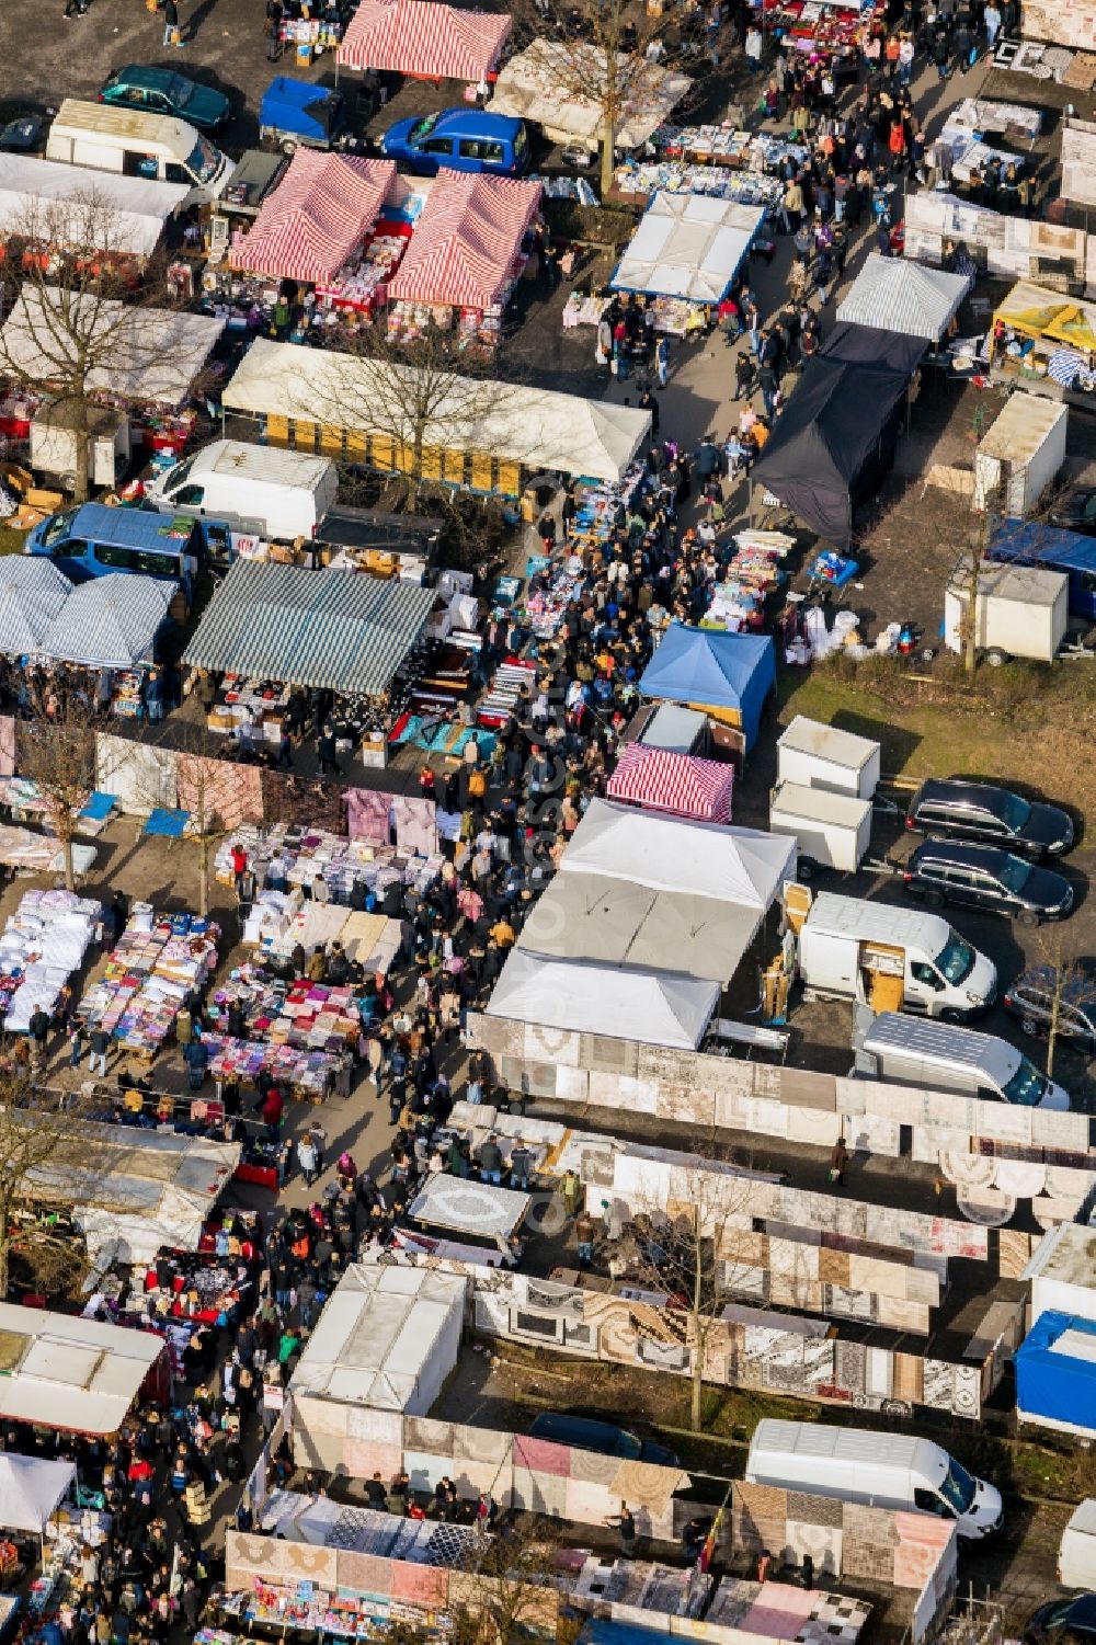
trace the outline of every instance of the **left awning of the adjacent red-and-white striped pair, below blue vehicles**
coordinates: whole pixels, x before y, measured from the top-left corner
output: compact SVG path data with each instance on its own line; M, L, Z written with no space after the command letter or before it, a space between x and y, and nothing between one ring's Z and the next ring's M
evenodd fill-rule
M360 247L395 183L393 160L298 148L250 234L229 252L234 268L276 280L331 280Z

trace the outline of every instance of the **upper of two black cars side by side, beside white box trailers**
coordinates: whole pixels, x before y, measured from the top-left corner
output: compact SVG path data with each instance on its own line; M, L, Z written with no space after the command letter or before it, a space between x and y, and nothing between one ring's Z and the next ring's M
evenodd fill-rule
M1073 822L1058 806L1022 799L996 783L930 776L913 795L905 826L917 834L1001 846L1022 857L1060 857L1073 844Z

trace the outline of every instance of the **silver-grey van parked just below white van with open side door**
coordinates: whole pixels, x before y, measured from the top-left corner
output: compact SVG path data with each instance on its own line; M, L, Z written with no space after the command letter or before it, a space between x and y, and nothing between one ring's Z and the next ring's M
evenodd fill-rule
M882 1012L861 1036L856 1073L890 1086L958 1091L1024 1109L1070 1107L1068 1092L996 1033Z

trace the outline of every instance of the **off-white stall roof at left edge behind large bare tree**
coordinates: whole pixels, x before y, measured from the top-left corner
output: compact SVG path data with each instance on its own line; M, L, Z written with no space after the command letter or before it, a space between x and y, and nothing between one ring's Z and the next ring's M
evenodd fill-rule
M206 365L227 321L181 309L140 308L56 286L23 286L2 336L5 368L48 387L59 360L79 349L97 362L89 392L178 406Z

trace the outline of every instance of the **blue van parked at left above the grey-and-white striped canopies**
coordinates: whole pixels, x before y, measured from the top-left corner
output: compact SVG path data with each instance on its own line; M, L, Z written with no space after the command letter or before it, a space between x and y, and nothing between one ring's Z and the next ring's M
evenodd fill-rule
M109 571L166 577L183 586L189 605L204 533L191 518L81 503L36 525L26 538L26 553L48 554L72 582L105 577Z

